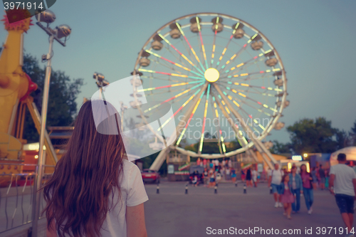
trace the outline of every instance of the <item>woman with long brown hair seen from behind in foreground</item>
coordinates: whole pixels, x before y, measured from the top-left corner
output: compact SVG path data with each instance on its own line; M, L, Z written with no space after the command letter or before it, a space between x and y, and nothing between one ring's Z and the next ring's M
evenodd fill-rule
M119 115L110 113L95 126L94 117L109 110L115 108L103 100L80 107L66 153L43 187L47 236L147 236L148 197L140 169L124 159Z

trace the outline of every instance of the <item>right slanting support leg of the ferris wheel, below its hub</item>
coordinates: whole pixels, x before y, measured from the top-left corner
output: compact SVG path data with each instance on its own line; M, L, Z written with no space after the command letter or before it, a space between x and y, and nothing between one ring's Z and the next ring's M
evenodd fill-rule
M262 157L263 154L267 154L268 158L271 159L271 161L276 164L276 159L274 159L272 157L271 152L268 151L268 149L266 149L266 147L264 147L264 145L262 144L262 142L258 139L255 139L255 137L253 136L253 132L251 131L250 127L248 127L248 125L246 125L245 120L241 117L241 115L239 114L239 112L237 112L236 110L234 110L234 107L232 107L232 105L230 104L229 100L227 100L226 96L224 95L224 93L222 93L221 89L219 88L219 85L217 85L216 83L214 83L214 88L218 91L218 93L221 95L221 98L223 98L223 100L226 102L227 107L229 107L229 110L231 110L231 112L234 114L234 116L240 120L242 127L244 127L244 130L248 133L248 135L250 135L249 137L252 139L253 144L255 144L258 152L261 153ZM264 148L264 149L263 149ZM270 167L271 169L273 169L273 165L271 164L271 162L267 162L268 159L265 158L266 163L268 164L268 167Z

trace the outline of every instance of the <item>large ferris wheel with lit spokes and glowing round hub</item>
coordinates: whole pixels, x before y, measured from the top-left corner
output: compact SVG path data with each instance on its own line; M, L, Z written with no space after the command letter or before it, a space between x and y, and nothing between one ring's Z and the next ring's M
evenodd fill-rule
M286 72L276 48L251 24L216 13L179 17L147 40L132 74L142 81L132 83L133 104L139 105L145 93L147 100L162 101L152 109L172 105L174 117L159 127L176 122L169 149L206 159L247 152L256 159L255 146L268 166L276 162L262 140L273 128L284 127L278 120L289 105ZM150 109L140 111L142 122ZM184 149L184 139L198 143L197 151ZM228 151L231 139L241 148ZM218 144L218 154L204 149L211 141ZM160 152L151 169L159 169L169 149Z

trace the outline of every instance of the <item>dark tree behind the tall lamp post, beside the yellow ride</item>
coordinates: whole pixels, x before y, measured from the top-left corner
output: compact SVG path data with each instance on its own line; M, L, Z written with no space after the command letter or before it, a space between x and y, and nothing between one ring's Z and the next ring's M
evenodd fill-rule
M33 96L33 102L35 102L38 111L41 112L42 89L46 68L41 68L36 58L26 54L23 57L22 69L38 85L38 90L33 92L31 96ZM82 85L83 79L71 80L63 71L52 71L48 98L47 126L68 126L73 122L77 112L77 103L75 100L80 93ZM26 112L23 138L27 139L28 142L38 142L38 132L29 112Z

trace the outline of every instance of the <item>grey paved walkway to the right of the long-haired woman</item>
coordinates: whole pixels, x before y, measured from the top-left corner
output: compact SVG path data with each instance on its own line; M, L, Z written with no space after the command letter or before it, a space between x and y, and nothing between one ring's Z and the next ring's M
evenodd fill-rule
M162 182L159 194L156 194L156 187L155 184L146 185L150 199L145 203L148 236L212 236L207 234L210 233L206 230L208 227L211 227L211 231L237 228L237 233L239 229L255 227L266 230L264 234L256 232L255 236L281 236L281 233L268 235L271 228L279 231L290 229L294 233L300 230L300 234L290 236L345 236L345 233L340 235L338 232L344 225L335 199L328 191L315 191L312 215L307 214L304 198L301 197L300 213L288 220L283 216L282 208L274 208L273 196L269 194L267 184L248 188L247 194L244 194L241 184L237 188L234 184L220 184L218 194L214 194L214 189L191 185L189 194L184 194L183 182ZM327 232L318 235L318 227L327 228ZM337 234L335 229L329 234L328 227L336 227ZM305 228L312 228L312 234L305 234Z

